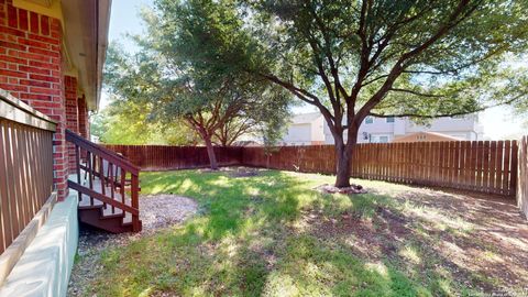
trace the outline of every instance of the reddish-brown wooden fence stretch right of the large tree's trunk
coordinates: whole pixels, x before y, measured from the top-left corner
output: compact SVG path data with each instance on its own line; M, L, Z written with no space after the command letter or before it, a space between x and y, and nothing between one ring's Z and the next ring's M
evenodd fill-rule
M366 162L362 162L362 161ZM361 144L356 177L515 195L515 141Z

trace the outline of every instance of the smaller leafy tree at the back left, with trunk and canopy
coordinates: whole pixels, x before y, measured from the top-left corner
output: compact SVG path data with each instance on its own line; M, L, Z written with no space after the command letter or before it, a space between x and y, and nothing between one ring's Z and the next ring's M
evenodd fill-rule
M156 121L187 123L202 139L213 169L215 141L229 145L255 131L276 135L290 99L282 88L239 67L249 55L238 52L246 41L226 34L241 25L232 8L157 1L153 11L143 13L147 34L134 36L139 54L128 56L112 47L108 57L110 90L148 107L148 117ZM235 63L215 67L219 57Z

